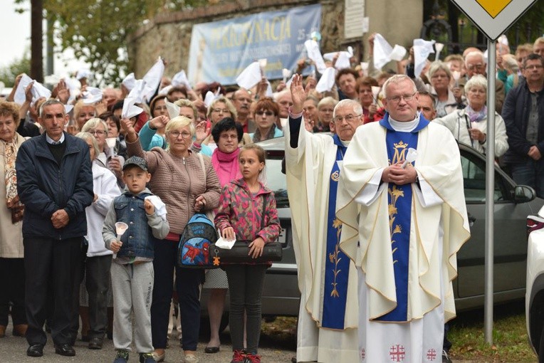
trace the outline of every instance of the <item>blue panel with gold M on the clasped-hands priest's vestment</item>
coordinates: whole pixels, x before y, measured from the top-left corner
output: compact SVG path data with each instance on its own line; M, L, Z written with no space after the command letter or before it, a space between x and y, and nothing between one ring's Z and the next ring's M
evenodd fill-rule
M417 149L419 131L429 125L429 121L419 118L419 124L411 132L395 131L389 124L389 115L385 115L380 125L387 129L387 158L389 165L403 162L408 148ZM415 164L415 162L413 163ZM394 270L394 283L397 291L397 307L377 320L388 322L407 321L408 311L408 265L410 247L410 223L412 221L412 184L397 185L389 183L387 187L389 231L391 233L391 252ZM384 241L384 243L387 243Z

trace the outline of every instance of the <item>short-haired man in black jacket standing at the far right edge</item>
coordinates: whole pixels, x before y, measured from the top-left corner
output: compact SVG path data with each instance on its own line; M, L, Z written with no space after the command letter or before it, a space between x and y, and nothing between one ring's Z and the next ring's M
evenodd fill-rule
M544 58L530 54L523 68L524 78L504 102L510 147L504 162L516 183L532 186L544 198Z

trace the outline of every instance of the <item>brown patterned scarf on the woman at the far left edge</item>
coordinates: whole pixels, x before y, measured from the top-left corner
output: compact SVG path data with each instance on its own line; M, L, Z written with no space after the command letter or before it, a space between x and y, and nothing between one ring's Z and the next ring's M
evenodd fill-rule
M11 222L16 223L23 219L23 205L19 202L17 195L17 173L15 170L15 161L17 158L17 133L13 140L4 144L4 174L6 182L6 206L11 209Z

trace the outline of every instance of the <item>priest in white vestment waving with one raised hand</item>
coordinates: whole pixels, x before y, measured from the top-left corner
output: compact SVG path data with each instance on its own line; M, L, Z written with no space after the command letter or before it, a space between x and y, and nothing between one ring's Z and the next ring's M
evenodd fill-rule
M291 93L293 107L284 135L301 294L297 362L358 362L357 269L340 251L335 206L341 162L362 125L362 107L353 100L340 101L331 122L335 135L312 134L304 127L307 93L300 75L293 78Z

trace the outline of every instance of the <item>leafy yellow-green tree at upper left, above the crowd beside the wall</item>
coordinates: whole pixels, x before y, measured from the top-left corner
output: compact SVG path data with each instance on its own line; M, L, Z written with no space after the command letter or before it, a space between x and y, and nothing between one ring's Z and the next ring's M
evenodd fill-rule
M54 21L55 51L73 49L76 58L90 64L100 85L118 85L130 73L127 36L144 21L204 4L206 0L43 0L46 19Z

